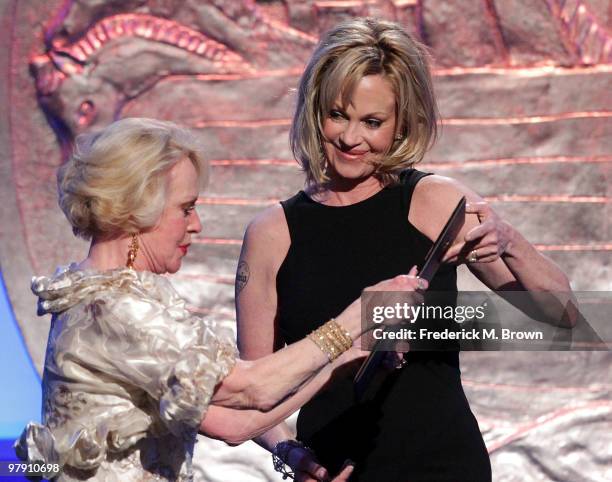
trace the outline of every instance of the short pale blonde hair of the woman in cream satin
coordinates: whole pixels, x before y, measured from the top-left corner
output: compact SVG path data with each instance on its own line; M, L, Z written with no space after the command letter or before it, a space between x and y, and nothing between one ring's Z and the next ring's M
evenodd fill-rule
M57 173L59 205L74 234L109 239L153 228L166 204L168 171L185 157L203 187L208 169L200 147L176 124L126 118L78 136Z

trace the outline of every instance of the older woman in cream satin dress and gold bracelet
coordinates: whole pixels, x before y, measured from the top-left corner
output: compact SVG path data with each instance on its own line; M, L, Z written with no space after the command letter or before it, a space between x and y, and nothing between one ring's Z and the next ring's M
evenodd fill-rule
M262 433L357 356L357 303L257 362L237 360L230 333L186 310L160 275L180 268L201 230L195 204L206 174L186 131L150 119L79 139L60 169L60 206L91 247L81 263L32 282L39 313L53 315L43 423L26 427L16 451L53 467L45 475L190 480L198 431L232 444ZM379 288L416 283L398 277Z

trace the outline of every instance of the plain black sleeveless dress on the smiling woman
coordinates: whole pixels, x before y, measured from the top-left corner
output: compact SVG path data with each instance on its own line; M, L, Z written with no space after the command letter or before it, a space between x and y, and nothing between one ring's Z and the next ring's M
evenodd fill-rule
M349 206L325 206L303 191L282 202L291 246L277 275L279 327L286 343L337 316L363 288L423 262L432 242L408 223L416 183L399 185ZM430 290L457 290L444 266ZM376 395L357 402L353 377L341 370L301 410L298 439L335 474L350 458L351 480L372 482L491 480L489 457L463 388L459 353L411 352Z

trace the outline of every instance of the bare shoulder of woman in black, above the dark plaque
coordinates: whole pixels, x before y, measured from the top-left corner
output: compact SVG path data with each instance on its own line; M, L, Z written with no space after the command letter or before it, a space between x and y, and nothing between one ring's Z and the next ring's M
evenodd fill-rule
M455 179L436 174L424 177L412 194L408 220L434 240L462 196L469 202L482 201L478 194Z

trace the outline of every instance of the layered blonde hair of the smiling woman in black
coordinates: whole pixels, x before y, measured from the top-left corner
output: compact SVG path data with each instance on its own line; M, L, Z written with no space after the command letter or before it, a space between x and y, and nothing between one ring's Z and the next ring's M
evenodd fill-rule
M437 137L438 110L429 54L399 25L373 18L340 23L325 34L300 79L290 131L291 150L306 184L322 186L325 174L323 121L341 97L349 105L356 84L382 75L396 96L395 141L378 161L375 176L387 185L421 161Z

